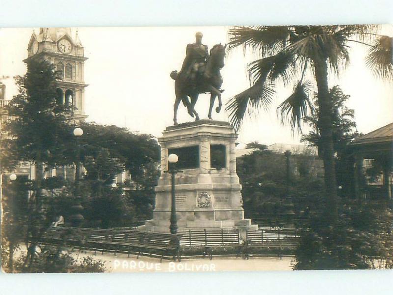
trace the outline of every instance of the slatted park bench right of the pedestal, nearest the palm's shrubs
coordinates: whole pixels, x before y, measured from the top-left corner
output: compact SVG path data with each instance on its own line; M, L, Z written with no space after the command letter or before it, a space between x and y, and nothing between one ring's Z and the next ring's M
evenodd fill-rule
M252 248L277 249L282 258L283 248L293 248L298 243L296 229L256 229L246 231L244 258L248 259Z

